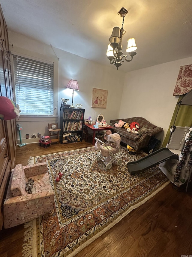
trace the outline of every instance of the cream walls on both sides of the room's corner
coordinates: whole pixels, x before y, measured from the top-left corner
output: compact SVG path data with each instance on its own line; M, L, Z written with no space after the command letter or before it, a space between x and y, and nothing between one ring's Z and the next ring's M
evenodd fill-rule
M109 123L111 119L141 116L164 129L164 132L158 136L163 142L167 130L170 129L170 120L178 100L178 97L173 96L173 90L179 68L192 63L190 57L125 74L110 64L104 66L14 32L9 32L9 42L10 50L18 55L20 53L53 61L55 67L54 96L57 108L54 110L54 117L20 116L17 123L23 127L21 131L23 143L38 142L37 138L25 139L26 133L29 136L33 133L37 135L38 132L46 135L48 123L59 123L61 98L69 98L70 103L72 102L72 92L66 89L71 78L78 81L80 89L74 92L73 103L83 105L85 118L91 116L95 119L99 113L102 113ZM128 64L123 63L123 65ZM106 109L91 108L92 88L108 90Z

